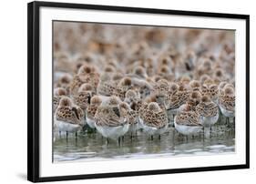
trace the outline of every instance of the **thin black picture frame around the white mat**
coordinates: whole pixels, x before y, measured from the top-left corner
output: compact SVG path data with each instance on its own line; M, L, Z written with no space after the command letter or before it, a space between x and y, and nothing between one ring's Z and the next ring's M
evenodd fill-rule
M109 10L118 12L164 14L164 15L189 15L218 18L243 19L246 21L246 163L242 165L229 165L218 167L202 167L189 169L159 169L141 170L118 173L102 173L88 175L73 175L60 177L39 176L39 8L73 8L90 10ZM33 182L70 180L70 179L98 179L112 177L128 177L140 175L170 174L181 172L198 172L224 169L249 169L250 168L250 15L219 14L208 12L179 11L167 9L151 9L138 7L123 7L109 5L81 5L69 3L32 2L27 5L27 179Z

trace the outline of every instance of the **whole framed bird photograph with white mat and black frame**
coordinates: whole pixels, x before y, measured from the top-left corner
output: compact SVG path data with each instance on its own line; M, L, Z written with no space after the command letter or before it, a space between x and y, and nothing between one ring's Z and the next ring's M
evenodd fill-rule
M29 3L28 180L248 169L249 20Z

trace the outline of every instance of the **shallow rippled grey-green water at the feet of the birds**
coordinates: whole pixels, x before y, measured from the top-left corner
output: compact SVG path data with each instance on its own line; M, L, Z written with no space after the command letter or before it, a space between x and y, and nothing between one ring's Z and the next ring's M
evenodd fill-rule
M54 161L92 161L123 158L159 158L230 154L235 152L235 131L226 125L218 125L200 132L195 137L180 135L174 128L158 136L149 137L138 131L133 138L125 135L118 141L103 138L98 133L57 135L54 142Z

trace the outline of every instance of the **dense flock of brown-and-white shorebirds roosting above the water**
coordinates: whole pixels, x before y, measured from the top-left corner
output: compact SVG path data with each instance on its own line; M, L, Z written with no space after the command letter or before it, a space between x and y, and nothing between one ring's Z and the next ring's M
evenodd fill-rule
M234 49L231 31L56 22L55 135L120 141L234 125Z

